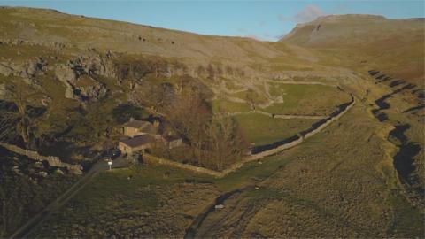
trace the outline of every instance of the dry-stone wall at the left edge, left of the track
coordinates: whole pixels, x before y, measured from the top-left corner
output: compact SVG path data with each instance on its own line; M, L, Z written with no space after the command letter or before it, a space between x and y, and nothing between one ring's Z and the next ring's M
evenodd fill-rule
M25 150L25 149L19 148L16 145L12 145L12 144L9 144L9 143L0 143L0 145L3 146L4 148L6 148L7 150L11 150L11 151L18 153L20 155L25 155L28 158L31 158L31 159L34 159L34 160L37 160L37 161L47 161L49 163L49 166L66 167L66 169L70 173L74 173L74 174L81 174L82 173L82 166L81 165L71 165L71 164L64 163L64 162L60 161L60 158L58 158L56 156L43 156L43 155L40 155L36 151Z

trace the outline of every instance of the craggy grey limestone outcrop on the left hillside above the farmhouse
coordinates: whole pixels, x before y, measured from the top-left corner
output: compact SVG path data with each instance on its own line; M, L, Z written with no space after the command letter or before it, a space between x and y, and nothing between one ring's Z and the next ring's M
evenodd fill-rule
M32 58L22 62L12 59L0 61L0 75L4 77L16 76L35 89L42 89L37 77L45 75L48 71L54 73L56 80L66 87L65 97L77 99L81 102L97 101L106 95L104 84L96 81L92 75L116 77L114 73L111 54L80 55L70 59L67 63L58 63L54 58ZM49 76L50 77L50 76ZM4 84L0 84L0 95L6 95Z

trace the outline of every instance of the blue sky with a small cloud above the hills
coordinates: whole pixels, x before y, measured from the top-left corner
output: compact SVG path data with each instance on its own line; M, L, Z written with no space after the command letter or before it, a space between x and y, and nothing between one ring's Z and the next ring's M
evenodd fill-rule
M0 5L56 9L88 17L166 27L205 35L239 35L276 41L300 22L328 14L376 14L390 19L425 17L424 1L0 1Z

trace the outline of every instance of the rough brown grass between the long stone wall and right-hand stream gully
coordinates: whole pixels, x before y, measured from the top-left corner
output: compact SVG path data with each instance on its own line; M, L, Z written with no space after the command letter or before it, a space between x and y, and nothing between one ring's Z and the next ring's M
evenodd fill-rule
M379 124L363 117L364 110L354 107L340 123L283 152L278 158L294 160L259 183L259 190L229 199L226 210L213 212L197 235L423 235L423 215L391 182L396 181L395 172L383 168L390 160L383 149L385 139L379 136Z

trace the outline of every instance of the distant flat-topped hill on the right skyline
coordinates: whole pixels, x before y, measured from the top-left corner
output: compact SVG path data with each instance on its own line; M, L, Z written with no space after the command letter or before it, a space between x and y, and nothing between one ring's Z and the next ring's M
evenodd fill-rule
M423 84L424 24L425 19L330 15L298 24L280 42L318 50L339 58L344 66L383 71Z

